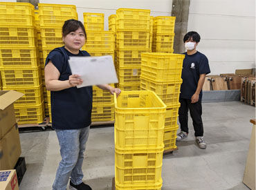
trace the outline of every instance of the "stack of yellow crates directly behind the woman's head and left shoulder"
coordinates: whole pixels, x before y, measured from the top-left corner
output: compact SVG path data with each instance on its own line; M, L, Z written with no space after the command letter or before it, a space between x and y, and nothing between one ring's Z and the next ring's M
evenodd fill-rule
M42 70L42 75L44 75L44 64L47 55L54 48L64 46L62 41L62 26L64 21L78 19L78 17L76 7L72 5L39 3L38 8L39 30L42 40L42 48L41 50L39 49L39 56L41 58L40 69ZM44 91L46 91L46 88L44 88ZM51 121L51 92L47 91L47 99L45 96L44 101L48 104L48 114Z

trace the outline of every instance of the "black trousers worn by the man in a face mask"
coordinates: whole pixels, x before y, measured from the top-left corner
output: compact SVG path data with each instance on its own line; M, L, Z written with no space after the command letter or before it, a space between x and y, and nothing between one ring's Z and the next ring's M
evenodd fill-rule
M181 124L181 131L188 133L188 109L190 109L190 116L193 120L194 136L203 136L203 122L202 122L202 104L201 100L194 104L191 104L191 99L180 98L179 102L181 107L179 108L179 122Z

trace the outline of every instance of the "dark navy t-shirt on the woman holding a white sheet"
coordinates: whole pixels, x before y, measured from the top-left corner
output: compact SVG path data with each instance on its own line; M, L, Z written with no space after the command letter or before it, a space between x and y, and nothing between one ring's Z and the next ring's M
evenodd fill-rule
M69 56L90 56L86 51L74 55L63 47L55 48L46 58L60 71L59 80L68 80L72 75L68 65ZM51 91L52 126L54 129L81 129L91 124L93 101L92 86L71 87L62 91Z

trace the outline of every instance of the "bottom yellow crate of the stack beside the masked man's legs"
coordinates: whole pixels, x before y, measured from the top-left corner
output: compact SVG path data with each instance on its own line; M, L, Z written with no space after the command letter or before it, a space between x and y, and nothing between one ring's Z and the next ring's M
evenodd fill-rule
M172 128L167 128L165 129L165 135L163 137L163 143L165 144L165 151L169 149L176 149L176 133L177 130L179 129L179 126L176 125L175 127Z

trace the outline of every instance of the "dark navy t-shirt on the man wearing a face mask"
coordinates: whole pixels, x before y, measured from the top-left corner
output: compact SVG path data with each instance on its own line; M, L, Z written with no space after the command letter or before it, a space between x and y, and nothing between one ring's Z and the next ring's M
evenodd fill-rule
M210 73L208 59L205 55L197 51L193 55L183 53L185 59L183 60L183 70L181 78L181 98L191 99L192 95L196 92L197 84L201 74ZM202 99L202 91L200 92L199 99Z

